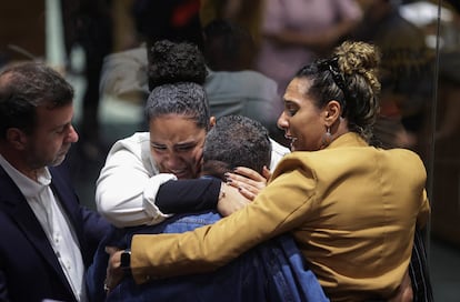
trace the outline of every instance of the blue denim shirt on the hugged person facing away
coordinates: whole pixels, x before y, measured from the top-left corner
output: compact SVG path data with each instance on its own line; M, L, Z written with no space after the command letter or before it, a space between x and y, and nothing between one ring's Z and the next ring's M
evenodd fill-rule
M130 246L134 233L180 233L211 224L216 212L176 215L151 226L113 229L101 243L88 270L90 301L103 301L108 254L106 245ZM138 285L124 278L107 301L329 301L317 278L307 269L293 239L281 235L246 252L229 264L207 274L192 274Z

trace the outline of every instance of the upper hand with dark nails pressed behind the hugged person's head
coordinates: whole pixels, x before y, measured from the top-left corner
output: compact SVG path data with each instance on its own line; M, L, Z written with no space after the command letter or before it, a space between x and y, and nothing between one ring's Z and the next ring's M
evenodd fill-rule
M271 172L267 167L263 167L262 175L244 167L236 168L233 173L226 173L227 184L237 188L244 198L251 201L267 187L267 180L270 177Z

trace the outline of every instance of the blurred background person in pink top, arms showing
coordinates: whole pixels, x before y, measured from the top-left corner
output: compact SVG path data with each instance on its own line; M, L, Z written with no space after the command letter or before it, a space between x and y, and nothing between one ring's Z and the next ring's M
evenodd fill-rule
M266 0L257 70L282 93L299 66L332 50L361 16L354 0Z

